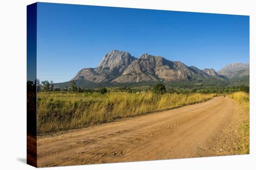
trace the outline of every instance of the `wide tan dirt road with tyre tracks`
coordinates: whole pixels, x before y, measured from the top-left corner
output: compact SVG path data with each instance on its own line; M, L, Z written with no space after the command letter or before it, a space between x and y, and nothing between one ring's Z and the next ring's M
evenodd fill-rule
M223 96L194 105L38 139L38 166L209 156L236 103Z

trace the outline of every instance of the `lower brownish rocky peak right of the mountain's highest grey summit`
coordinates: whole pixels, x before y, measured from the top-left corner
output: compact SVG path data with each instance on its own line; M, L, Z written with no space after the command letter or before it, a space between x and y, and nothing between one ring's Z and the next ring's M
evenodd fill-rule
M179 61L169 61L161 56L143 54L134 60L120 77L113 82L180 81L209 78L202 71L195 71Z

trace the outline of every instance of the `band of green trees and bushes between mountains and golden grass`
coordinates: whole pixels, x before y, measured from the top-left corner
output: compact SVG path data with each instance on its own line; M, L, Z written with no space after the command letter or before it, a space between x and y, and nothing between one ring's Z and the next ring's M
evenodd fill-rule
M47 81L44 81L47 82ZM40 91L52 91L46 90L45 87L40 85ZM64 86L60 88L58 83L54 84L54 88L60 88L60 91L72 91L72 92L79 92L79 93L93 93L97 91L99 93L106 93L107 92L128 92L128 93L136 93L136 92L148 92L153 91L156 94L162 93L177 93L177 94L190 94L190 93L202 93L202 94L230 94L238 91L243 91L249 94L249 86L246 85L239 85L234 86L227 84L225 81L217 81L216 79L207 79L206 80L191 80L191 81L178 81L178 82L162 82L159 83L157 81L151 82L137 82L137 83L117 83L117 82L102 82L102 83L95 83L95 82L81 82L81 80L73 80L71 82L67 82L68 86ZM226 84L225 84L226 83ZM87 88L84 88L82 85L86 84ZM159 84L165 87L165 90L160 90L158 88ZM52 84L51 84L52 85ZM63 83L62 83L63 85ZM160 85L161 86L161 85ZM158 88L156 88L158 87ZM102 89L101 89L102 88ZM104 90L103 90L104 89Z

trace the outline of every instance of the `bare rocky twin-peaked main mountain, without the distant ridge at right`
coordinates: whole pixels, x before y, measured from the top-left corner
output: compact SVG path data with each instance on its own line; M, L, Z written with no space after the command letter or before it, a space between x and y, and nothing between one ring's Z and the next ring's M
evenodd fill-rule
M113 50L102 58L98 67L81 69L72 79L88 82L180 81L209 78L202 70L179 61L147 53L138 59L128 52Z

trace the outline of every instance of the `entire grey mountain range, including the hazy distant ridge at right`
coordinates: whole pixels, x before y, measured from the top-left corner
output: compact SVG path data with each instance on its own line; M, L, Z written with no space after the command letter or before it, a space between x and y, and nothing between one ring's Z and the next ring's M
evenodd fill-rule
M207 79L228 82L230 79L243 77L249 77L249 63L228 64L216 72L212 68L201 70L195 66L187 66L180 61L170 61L164 57L152 56L147 53L136 58L128 52L112 50L101 59L96 68L81 69L72 80L82 85L86 83L179 82ZM61 85L61 83L56 84L57 86Z

